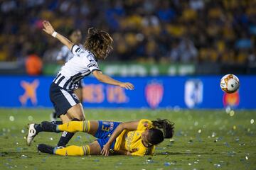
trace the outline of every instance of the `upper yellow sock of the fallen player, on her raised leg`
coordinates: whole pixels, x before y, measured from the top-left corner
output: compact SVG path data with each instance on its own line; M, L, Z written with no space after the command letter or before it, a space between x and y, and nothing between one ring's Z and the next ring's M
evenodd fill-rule
M57 130L67 132L89 132L90 121L71 121L69 123L64 123L63 125L57 125Z

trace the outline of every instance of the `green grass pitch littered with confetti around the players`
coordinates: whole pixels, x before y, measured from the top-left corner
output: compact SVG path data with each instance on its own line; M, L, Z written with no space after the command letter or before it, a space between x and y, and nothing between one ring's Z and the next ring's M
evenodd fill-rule
M60 134L42 132L26 146L27 123L49 120L51 110L0 109L0 169L256 169L256 111L85 110L87 120L168 118L176 123L174 141L165 140L154 156L61 157L38 153ZM69 145L94 140L77 133Z

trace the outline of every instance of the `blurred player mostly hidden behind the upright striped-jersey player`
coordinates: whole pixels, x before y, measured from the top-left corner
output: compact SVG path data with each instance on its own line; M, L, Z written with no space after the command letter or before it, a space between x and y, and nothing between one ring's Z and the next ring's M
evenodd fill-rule
M71 29L68 31L68 38L71 42L74 44L77 44L79 47L82 48L82 44L80 43L82 40L82 33L78 29ZM68 62L72 57L74 57L73 53L68 49L66 45L63 45L61 47L60 52L58 52L58 55L56 57L56 62L60 65L65 64L65 62ZM78 96L80 102L82 103L82 79L78 82L78 89L74 90L74 93L76 96ZM52 121L56 120L57 114L56 111L53 111L53 113L50 115L50 119Z

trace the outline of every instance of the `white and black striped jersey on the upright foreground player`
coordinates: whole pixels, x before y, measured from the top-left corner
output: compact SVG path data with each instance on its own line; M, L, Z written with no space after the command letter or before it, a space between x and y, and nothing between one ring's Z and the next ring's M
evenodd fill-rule
M53 83L66 90L78 88L78 82L95 70L100 70L94 55L89 50L82 49L78 45L71 48L73 56L58 72Z

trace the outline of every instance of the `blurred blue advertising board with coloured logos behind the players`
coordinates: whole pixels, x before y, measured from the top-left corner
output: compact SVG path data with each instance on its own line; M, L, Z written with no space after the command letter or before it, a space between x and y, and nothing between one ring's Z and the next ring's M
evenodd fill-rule
M85 108L256 109L256 76L238 75L240 89L235 94L221 91L221 77L114 77L132 82L133 91L86 77L82 104ZM52 107L49 87L53 78L0 77L0 107Z

